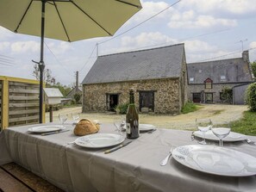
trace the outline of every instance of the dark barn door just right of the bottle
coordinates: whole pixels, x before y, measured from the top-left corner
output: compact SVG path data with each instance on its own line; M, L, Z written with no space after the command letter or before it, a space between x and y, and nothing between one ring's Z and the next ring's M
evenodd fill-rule
M141 108L154 111L154 91L140 91L140 111Z

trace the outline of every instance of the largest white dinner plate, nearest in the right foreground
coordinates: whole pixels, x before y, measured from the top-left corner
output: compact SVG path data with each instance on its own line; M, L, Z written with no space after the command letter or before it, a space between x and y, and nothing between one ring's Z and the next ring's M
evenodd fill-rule
M172 157L194 170L228 177L256 175L256 158L219 146L178 146Z

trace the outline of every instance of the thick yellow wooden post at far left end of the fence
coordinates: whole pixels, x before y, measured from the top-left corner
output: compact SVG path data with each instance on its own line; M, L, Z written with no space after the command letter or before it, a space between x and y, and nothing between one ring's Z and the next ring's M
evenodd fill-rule
M3 79L2 87L2 127L9 127L9 81Z

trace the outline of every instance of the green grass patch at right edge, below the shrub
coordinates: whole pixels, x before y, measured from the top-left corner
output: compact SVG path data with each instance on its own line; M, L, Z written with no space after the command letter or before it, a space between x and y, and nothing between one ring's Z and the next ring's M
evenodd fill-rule
M256 136L256 112L245 111L243 118L231 122L232 131Z

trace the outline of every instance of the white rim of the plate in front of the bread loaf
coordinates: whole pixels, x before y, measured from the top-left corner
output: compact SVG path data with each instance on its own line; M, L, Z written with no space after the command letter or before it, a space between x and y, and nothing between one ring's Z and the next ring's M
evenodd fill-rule
M93 146L91 145L90 141L88 142L88 145L84 145L84 144L81 144L79 143L80 139L90 139L90 138L100 138L100 137L104 137L104 136L113 136L113 137L116 137L116 138L119 138L119 139L116 139L116 143L115 144L106 144L105 146ZM94 138L95 139L95 138ZM77 139L75 139L75 144L78 145L78 146L82 146L82 147L85 147L85 148L105 148L105 147L109 147L109 146L117 146L119 144L121 144L123 141L124 141L124 137L122 135L119 135L119 134L115 134L115 133L94 133L94 134L89 134L89 135L85 135L85 136L82 136L82 137L79 137Z

